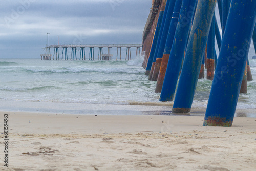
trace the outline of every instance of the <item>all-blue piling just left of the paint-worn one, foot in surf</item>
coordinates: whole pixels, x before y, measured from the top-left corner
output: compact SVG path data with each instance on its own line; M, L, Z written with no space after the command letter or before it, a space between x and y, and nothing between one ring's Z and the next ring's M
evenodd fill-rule
M196 2L197 0L183 0L172 49L169 52L170 54L168 54L168 51L164 52L163 62L166 60L168 64L163 85L162 87L159 85L161 87L160 101L173 100Z

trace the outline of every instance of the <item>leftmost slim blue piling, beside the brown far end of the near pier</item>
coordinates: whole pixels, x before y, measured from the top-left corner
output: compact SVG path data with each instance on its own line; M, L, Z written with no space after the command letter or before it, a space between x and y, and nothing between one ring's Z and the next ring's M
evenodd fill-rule
M154 54L156 51L156 47L157 47L157 42L158 39L160 39L161 37L161 28L162 28L162 22L166 17L166 12L167 12L167 8L169 6L170 0L167 0L166 5L162 6L159 12L159 17L158 17L158 21L157 21L157 27L155 30L155 34L154 34L154 38L153 38L153 42L152 42L152 46L151 46L151 50L150 50L150 56L148 57L147 60L147 66L146 66L146 72L145 75L150 75L150 71L152 68L152 64L153 64L153 59L154 59ZM165 8L166 8L166 12L165 12ZM160 36L160 37L159 37Z

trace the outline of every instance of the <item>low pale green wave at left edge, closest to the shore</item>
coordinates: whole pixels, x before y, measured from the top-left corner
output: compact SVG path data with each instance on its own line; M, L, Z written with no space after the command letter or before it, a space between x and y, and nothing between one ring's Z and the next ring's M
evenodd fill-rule
M38 91L38 90L48 90L48 89L61 89L60 87L55 86L41 86L41 87L32 87L32 88L0 88L1 91L6 92L28 92L28 91Z

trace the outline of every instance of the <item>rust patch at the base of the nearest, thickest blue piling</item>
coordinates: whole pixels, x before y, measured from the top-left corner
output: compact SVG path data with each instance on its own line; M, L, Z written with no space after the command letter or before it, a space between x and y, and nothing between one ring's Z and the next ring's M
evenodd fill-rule
M221 117L208 117L207 120L204 120L203 126L223 126L223 127L231 127L233 121L226 122L226 118Z

